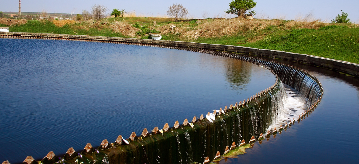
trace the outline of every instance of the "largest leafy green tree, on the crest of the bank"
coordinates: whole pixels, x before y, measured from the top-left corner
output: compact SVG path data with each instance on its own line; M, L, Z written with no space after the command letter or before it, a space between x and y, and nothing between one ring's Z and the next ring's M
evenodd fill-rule
M232 0L232 2L229 3L229 10L225 12L238 15L238 17L243 16L248 10L255 8L256 4L253 0Z

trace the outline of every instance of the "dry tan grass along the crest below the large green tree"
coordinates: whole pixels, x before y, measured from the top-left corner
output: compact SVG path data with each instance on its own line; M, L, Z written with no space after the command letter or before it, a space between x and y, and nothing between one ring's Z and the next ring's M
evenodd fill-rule
M322 26L329 25L328 23L323 23L319 20L309 19L309 16L305 18L298 18L297 20L280 20L280 19L243 19L243 18L233 18L233 19L211 19L211 20L202 20L195 27L189 27L186 25L178 26L174 30L169 28L172 24L167 24L157 28L162 34L168 33L181 33L182 37L187 37L190 39L197 39L198 37L210 38L210 37L222 37L222 36L231 36L236 35L239 32L255 32L257 30L266 29L268 26L280 26L281 29L297 29L297 28L308 28L308 29L318 29ZM254 42L258 39L262 39L261 36L248 40L249 42Z

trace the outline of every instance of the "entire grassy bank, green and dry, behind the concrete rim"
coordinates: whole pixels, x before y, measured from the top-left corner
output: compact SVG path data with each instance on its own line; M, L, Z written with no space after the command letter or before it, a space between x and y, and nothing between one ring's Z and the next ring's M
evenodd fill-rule
M158 23L154 24L154 20ZM176 28L170 28L171 25ZM13 25L0 22L0 26L9 26L11 32L143 39L148 38L148 33L161 33L163 40L283 50L359 63L359 26L318 20L208 19L172 22L168 18L130 17L108 18L100 22L28 20L27 23Z

